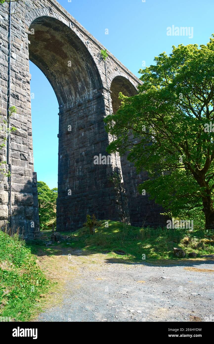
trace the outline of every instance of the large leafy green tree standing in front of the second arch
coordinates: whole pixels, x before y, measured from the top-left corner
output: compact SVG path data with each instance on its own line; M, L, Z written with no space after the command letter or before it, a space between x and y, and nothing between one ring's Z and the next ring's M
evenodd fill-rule
M107 150L127 151L138 171L148 171L139 190L167 213L199 209L206 228L214 228L214 35L207 45L172 48L140 69L137 95L120 94L120 109L105 119L117 137Z

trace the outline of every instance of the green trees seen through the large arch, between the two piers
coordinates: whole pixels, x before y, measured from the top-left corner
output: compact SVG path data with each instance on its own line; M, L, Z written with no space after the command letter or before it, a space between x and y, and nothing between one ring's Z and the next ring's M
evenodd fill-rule
M45 182L37 182L38 208L40 228L46 229L47 224L56 222L57 188L50 189Z

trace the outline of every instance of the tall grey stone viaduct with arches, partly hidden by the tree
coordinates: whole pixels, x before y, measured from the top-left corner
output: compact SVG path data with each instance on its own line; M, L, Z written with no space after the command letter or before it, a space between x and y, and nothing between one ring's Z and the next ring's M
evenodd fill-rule
M8 4L3 6L8 12ZM16 13L11 15L10 43L9 16L0 12L2 118L7 120L9 106L17 108L10 117L10 126L17 130L0 150L1 161L11 170L11 177L0 183L0 227L10 218L11 226L19 226L24 237L34 237L39 230L29 60L45 74L59 103L57 230L79 228L87 214L117 221L125 218L138 226L161 224L160 207L137 191L145 171L136 174L134 166L119 155L112 155L112 164L93 162L95 155L107 154L113 140L103 118L119 108L119 92L136 94L139 79L110 52L104 62L102 44L57 1L22 2L15 10L17 6L12 2ZM48 148L45 138L41 140ZM115 169L122 175L120 189L110 181Z

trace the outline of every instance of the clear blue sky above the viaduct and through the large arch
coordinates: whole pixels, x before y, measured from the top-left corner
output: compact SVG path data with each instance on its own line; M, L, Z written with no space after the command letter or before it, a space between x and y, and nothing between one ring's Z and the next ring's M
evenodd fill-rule
M139 77L142 62L153 64L172 45L206 44L214 33L213 0L60 0L107 50ZM168 36L167 28L193 27L193 38ZM105 29L109 34L105 34ZM37 179L57 187L58 102L44 74L30 62L34 170ZM48 128L48 130L47 130Z

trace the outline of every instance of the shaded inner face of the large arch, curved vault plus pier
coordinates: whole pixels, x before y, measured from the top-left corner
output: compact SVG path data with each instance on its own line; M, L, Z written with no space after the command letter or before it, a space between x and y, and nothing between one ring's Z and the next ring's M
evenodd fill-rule
M34 19L29 32L29 59L46 75L59 103L57 230L81 227L87 214L119 219L120 206L109 202L110 194L117 197L108 178L111 165L93 163L94 156L105 154L108 134L102 81L87 43L48 16Z

